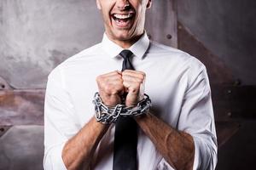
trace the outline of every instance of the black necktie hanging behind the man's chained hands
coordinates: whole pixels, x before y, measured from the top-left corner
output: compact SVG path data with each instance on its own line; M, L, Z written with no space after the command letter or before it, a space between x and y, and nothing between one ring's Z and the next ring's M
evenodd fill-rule
M123 50L120 56L124 58L122 71L134 70L131 65L132 53ZM137 122L132 117L119 117L115 124L113 144L113 170L137 169Z

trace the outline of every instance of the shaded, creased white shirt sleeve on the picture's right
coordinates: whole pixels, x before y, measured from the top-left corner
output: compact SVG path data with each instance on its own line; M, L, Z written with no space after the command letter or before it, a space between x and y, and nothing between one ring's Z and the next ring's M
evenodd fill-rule
M212 170L217 164L217 137L211 89L206 68L197 59L191 62L188 81L178 129L189 133L194 139L193 169Z

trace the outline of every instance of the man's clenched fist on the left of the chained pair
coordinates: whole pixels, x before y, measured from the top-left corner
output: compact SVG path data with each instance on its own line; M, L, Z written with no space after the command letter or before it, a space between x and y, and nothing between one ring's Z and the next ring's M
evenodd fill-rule
M112 71L96 77L99 94L104 105L115 106L121 104L121 96L124 94L122 73Z

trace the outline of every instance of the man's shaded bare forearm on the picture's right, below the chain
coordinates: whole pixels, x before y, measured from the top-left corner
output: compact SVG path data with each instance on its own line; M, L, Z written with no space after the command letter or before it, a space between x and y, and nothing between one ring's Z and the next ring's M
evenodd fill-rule
M136 118L160 154L176 169L192 169L195 155L193 138L179 132L152 114Z

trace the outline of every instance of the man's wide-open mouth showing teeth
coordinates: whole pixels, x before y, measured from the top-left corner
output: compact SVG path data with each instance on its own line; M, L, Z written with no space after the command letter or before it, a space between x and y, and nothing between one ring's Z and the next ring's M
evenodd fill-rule
M120 27L128 27L128 26L131 26L134 16L135 16L134 13L112 14L111 18L114 21L115 25Z

